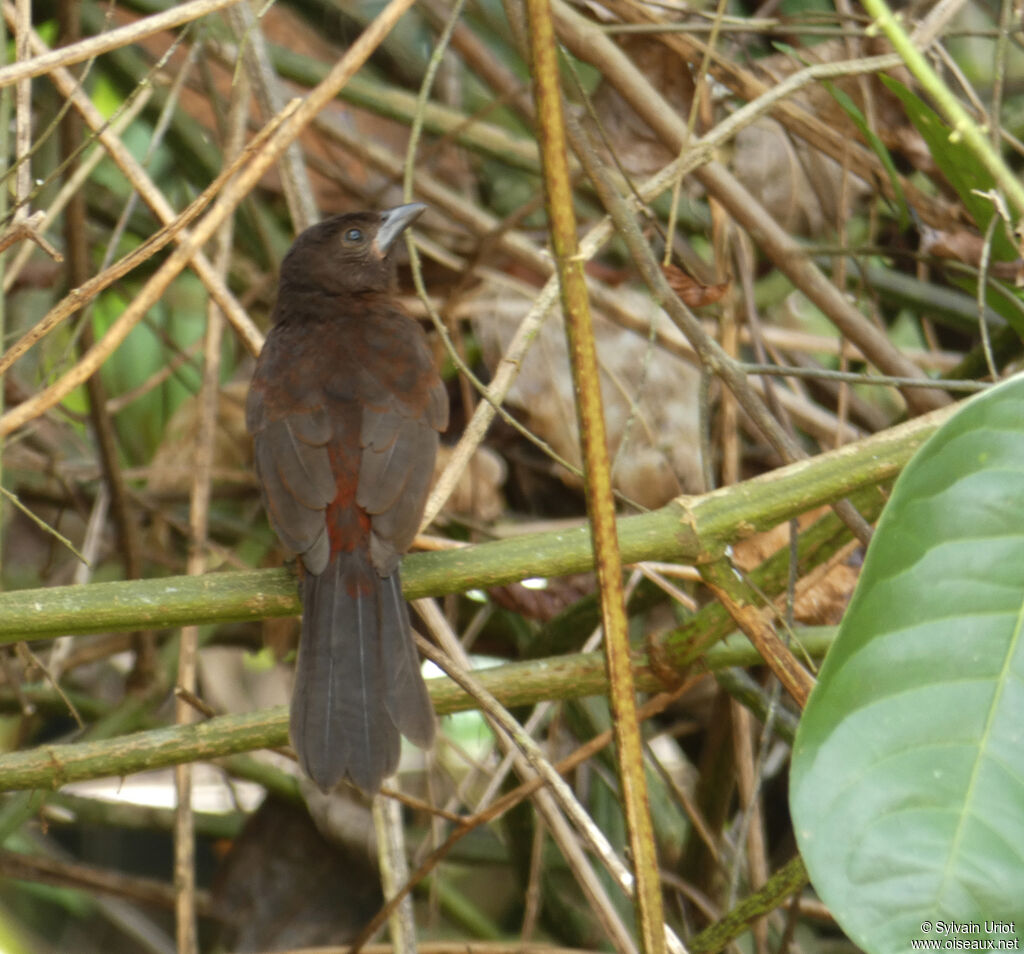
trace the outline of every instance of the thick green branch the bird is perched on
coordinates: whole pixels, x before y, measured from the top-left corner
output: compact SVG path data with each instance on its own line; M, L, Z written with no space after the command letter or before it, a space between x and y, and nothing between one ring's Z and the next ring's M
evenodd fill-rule
M839 450L667 507L618 520L625 563L696 563L815 507L894 478L913 451L952 414L915 418ZM402 565L406 596L419 599L592 569L590 533L529 533L440 553L413 554ZM0 594L0 644L69 633L170 628L294 616L300 611L288 569L52 587Z

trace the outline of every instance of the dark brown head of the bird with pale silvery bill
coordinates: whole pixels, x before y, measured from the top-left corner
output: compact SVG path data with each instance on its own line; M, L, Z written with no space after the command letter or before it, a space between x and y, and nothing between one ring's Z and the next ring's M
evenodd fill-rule
M398 236L426 208L414 202L383 212L350 212L307 228L281 264L282 288L328 295L389 291Z

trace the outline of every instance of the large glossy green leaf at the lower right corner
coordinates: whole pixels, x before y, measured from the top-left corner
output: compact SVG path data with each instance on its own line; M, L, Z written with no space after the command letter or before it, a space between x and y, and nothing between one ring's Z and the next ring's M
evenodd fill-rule
M865 951L1024 939L1022 622L1019 377L900 477L797 733L800 850Z

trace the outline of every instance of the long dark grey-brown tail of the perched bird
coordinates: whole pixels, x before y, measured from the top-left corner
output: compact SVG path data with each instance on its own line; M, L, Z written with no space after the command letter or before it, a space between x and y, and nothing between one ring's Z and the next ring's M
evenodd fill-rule
M299 762L324 791L347 778L376 792L398 767L399 735L424 747L434 737L398 571L382 577L365 551L335 553L304 576L302 604L291 720Z

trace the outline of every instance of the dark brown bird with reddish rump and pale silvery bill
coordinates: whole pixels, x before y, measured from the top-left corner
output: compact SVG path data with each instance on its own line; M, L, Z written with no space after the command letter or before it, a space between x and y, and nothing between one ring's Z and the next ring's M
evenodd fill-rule
M398 575L449 414L426 336L394 299L395 243L424 209L299 235L246 404L270 524L302 561L291 734L325 791L342 779L377 791L399 734L434 736Z

